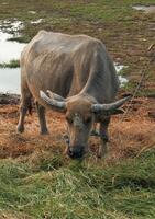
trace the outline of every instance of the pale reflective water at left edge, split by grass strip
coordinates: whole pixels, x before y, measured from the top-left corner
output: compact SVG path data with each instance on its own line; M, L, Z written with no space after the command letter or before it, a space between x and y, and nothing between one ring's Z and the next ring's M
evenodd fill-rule
M0 21L0 64L9 64L19 60L21 51L26 44L9 41L19 36L19 30L23 27L22 22L14 20ZM14 33L14 34L12 34ZM0 68L0 92L20 93L20 68Z

